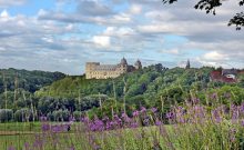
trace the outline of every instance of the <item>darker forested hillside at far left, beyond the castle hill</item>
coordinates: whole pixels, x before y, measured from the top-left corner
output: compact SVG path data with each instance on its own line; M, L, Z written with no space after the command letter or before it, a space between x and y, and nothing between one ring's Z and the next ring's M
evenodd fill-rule
M61 72L0 69L0 107L13 108L16 103L33 96L37 90L64 77Z

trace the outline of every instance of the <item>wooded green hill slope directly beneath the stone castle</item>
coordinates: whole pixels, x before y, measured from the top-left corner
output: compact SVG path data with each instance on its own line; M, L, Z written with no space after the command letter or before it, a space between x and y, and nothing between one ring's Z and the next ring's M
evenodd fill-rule
M172 87L181 87L184 90L190 90L199 83L201 89L207 87L210 82L210 72L213 68L201 69L183 69L173 68L166 69L161 64L145 67L130 73L124 73L115 79L85 79L84 76L65 77L62 80L55 81L52 84L37 91L35 94L40 97L79 97L80 94L106 94L109 97L128 99L135 97L154 97L160 94L164 89ZM125 88L125 89L124 89ZM125 91L124 91L125 90Z

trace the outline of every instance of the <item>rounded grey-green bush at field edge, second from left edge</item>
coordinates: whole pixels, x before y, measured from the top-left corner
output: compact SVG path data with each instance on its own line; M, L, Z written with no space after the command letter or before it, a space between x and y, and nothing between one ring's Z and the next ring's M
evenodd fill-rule
M33 114L31 110L27 108L17 110L14 113L14 121L26 122L26 121L32 121L32 120L33 120Z

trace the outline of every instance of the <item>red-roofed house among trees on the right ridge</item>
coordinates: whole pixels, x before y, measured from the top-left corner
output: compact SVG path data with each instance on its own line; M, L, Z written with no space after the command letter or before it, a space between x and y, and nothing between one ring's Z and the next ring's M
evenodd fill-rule
M220 81L220 82L237 82L238 70L236 69L222 69L212 71L210 74L211 81Z

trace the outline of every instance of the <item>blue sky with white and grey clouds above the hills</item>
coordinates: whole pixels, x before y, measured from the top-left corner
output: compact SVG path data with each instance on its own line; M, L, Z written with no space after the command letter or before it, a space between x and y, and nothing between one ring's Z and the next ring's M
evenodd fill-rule
M244 29L227 27L243 8L216 16L196 0L0 0L0 68L84 73L85 62L244 68Z

